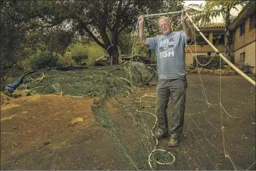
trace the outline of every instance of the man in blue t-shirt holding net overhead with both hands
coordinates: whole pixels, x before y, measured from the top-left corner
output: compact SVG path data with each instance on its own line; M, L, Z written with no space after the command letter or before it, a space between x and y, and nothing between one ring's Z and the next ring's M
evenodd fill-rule
M171 99L171 139L169 146L178 146L181 140L185 113L185 89L188 87L185 72L185 45L192 37L192 30L186 22L186 15L181 14L183 30L173 32L169 18L159 19L161 36L146 38L144 34L144 18L140 16L139 38L140 43L150 46L157 54L157 127L154 134L156 139L162 139L168 135L168 120L166 109L169 98Z

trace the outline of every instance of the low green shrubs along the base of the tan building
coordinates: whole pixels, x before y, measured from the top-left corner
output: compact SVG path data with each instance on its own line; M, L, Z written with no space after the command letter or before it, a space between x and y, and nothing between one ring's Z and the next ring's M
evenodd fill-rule
M209 62L212 59L211 62ZM199 65L198 67L201 68L207 68L207 69L220 69L219 68L219 64L220 64L220 57L219 56L214 56L214 58L212 58L212 56L197 56L197 61L201 64L206 64L209 63L208 65ZM197 61L195 60L195 58L193 58L193 68L197 68ZM224 61L221 61L221 68L224 68Z

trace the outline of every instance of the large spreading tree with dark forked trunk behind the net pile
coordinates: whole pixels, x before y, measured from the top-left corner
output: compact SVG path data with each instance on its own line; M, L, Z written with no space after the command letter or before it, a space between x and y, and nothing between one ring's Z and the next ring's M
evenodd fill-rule
M77 35L78 39L90 38L99 46L108 49L114 56L114 64L118 63L118 35L123 30L135 28L139 13L157 13L161 9L176 6L183 1L33 1L31 8L37 11L36 22L51 25L66 25ZM157 7L157 8L156 8Z

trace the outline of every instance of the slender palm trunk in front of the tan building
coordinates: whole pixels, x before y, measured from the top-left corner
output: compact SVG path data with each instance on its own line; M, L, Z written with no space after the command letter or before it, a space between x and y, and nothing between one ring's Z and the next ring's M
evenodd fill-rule
M231 58L231 32L230 32L230 10L226 9L226 24L225 24L225 56L231 63L234 63L233 58Z

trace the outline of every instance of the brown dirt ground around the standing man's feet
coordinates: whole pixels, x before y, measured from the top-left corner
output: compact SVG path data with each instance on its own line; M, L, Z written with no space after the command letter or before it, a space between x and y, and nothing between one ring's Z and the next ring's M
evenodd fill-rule
M240 76L219 83L217 75L188 75L181 144L169 148L166 137L157 146L176 163L158 170L255 170L255 87ZM154 106L154 97L138 98L155 88L136 89L106 106L96 99L1 94L1 170L150 170L155 119L136 109ZM153 107L142 110L154 113Z

